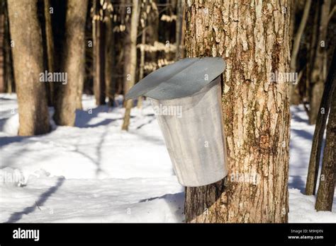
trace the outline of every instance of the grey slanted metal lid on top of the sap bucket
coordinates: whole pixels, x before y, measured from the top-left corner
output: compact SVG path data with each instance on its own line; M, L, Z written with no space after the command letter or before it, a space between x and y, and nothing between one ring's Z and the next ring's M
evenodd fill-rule
M221 57L185 58L153 71L135 84L126 100L145 95L156 100L184 98L201 90L223 73Z

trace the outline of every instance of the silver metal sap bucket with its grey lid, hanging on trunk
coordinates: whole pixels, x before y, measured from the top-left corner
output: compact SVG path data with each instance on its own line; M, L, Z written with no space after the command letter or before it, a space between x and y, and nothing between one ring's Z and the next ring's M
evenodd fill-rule
M169 68L174 64L180 66ZM179 183L208 185L228 175L220 86L225 63L208 57L174 64L148 75L152 78L131 88L126 99L147 95L152 100ZM172 74L176 69L180 76Z

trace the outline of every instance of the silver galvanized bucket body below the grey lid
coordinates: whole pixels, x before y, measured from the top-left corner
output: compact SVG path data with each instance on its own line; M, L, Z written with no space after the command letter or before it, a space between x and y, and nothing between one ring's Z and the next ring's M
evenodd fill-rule
M228 175L220 100L219 77L190 97L152 99L153 107L179 112L157 114L157 120L181 185L208 185Z

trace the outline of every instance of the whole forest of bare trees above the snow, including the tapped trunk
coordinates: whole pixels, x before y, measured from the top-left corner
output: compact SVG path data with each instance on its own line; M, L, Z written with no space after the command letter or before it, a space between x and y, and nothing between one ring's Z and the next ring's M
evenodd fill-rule
M0 93L17 95L18 136L47 134L51 121L75 127L84 94L124 107L128 131L146 99L123 100L137 81L185 57L223 57L229 175L186 187L186 222L286 223L291 105L315 125L306 195L332 210L335 9L335 0L1 0ZM244 173L258 182L230 178Z

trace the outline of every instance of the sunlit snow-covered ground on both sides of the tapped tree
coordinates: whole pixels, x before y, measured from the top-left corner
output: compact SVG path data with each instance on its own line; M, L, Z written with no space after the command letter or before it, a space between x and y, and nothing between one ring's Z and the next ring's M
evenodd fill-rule
M16 95L0 94L0 222L182 222L177 182L150 103L133 109L121 131L122 108L83 98L77 127L16 136ZM289 221L336 222L316 212L303 192L314 127L292 107ZM52 110L50 110L52 114Z

